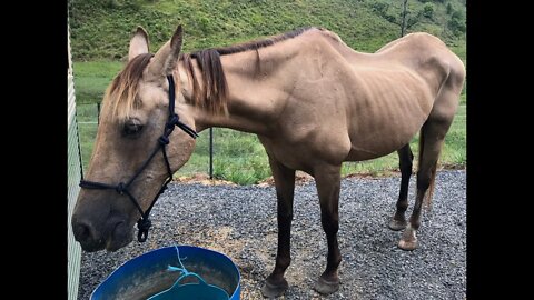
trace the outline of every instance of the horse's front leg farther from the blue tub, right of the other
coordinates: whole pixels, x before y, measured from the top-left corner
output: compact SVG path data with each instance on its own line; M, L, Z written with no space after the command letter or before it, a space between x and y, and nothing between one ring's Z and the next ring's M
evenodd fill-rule
M339 229L340 169L342 166L325 166L314 170L320 202L320 222L328 243L326 270L315 284L315 290L323 294L329 294L339 289L337 268L342 262L342 254L337 244L337 231Z

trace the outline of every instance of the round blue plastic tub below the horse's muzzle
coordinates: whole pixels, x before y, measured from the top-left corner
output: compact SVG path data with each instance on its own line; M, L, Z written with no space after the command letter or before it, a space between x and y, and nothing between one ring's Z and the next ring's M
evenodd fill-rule
M239 270L227 256L191 246L178 246L178 250L180 257L186 258L181 262L188 271L200 274L206 283L224 289L230 300L239 299ZM145 300L176 282L179 272L167 271L168 266L177 266L175 247L160 248L134 258L101 282L92 292L91 300Z

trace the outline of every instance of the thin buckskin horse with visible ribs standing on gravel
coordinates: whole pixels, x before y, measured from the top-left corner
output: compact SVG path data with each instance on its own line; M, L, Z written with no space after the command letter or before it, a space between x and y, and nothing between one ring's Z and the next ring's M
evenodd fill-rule
M464 64L445 43L427 33L412 33L376 53L362 53L319 28L186 54L180 54L181 41L178 27L152 56L148 34L138 28L128 64L106 92L86 174L91 181L81 184L72 217L76 239L85 250L113 251L128 244L140 217L139 227L148 230L150 199L195 148L190 129L210 127L258 134L269 158L278 199L278 252L264 296L280 296L288 287L284 273L291 260L295 170L315 178L320 202L328 256L315 286L318 292L332 293L339 284L344 161L397 151L400 192L389 228L405 229L398 247L417 247L422 203L425 194L432 197L436 163L465 77ZM185 132L168 130L174 124ZM158 140L160 132L166 137ZM407 222L409 141L417 132L417 196Z

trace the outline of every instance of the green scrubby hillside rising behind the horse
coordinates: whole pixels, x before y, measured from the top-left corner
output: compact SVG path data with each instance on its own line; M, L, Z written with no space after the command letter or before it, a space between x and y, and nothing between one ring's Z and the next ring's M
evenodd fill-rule
M121 60L140 24L156 51L185 28L184 50L227 46L305 26L327 28L358 51L399 37L402 0L70 0L75 61ZM409 0L407 32L442 38L465 61L465 0ZM412 20L412 21L411 21Z

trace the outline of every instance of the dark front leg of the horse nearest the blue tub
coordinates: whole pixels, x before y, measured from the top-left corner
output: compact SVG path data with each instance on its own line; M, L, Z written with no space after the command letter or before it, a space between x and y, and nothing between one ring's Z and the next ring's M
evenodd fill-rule
M261 294L267 298L281 296L289 287L284 273L291 263L290 239L293 220L293 197L295 191L295 170L291 170L269 157L278 199L278 252L275 269L267 277Z

